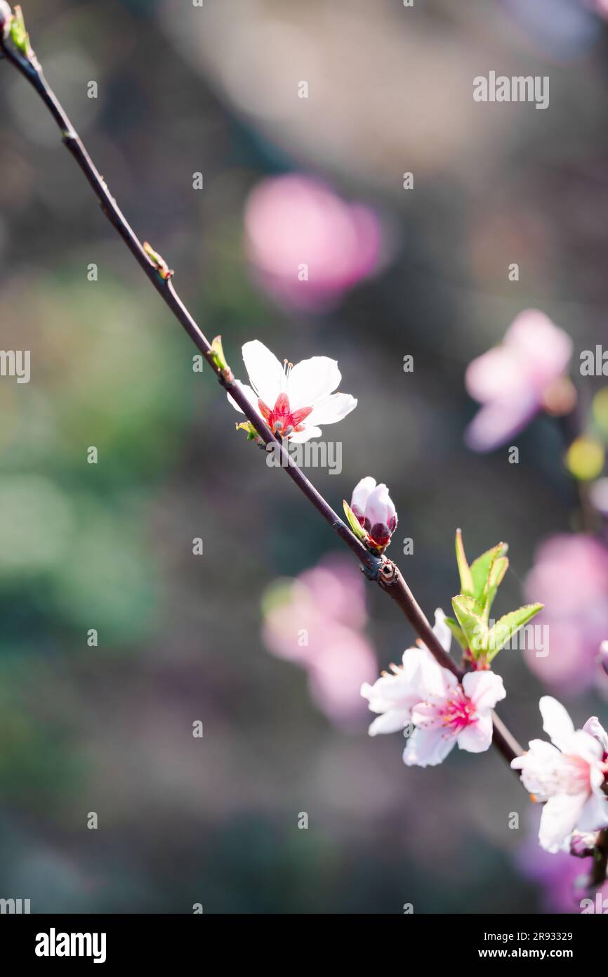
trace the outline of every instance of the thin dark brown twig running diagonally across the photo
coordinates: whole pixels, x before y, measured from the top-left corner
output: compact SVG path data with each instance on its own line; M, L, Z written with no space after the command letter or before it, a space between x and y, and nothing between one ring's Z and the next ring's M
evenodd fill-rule
M65 145L66 149L70 151L78 163L78 166L84 173L92 190L98 197L101 204L101 209L108 221L117 231L117 233L120 234L132 255L142 268L144 275L147 276L175 318L180 322L182 328L188 334L196 348L210 364L224 390L229 392L230 397L236 402L236 404L239 405L250 424L262 439L263 444L266 446L271 444L274 450L279 452L281 467L285 469L292 481L295 482L298 488L300 488L300 490L304 493L308 501L315 507L317 512L321 514L325 521L329 523L332 529L340 536L343 542L345 542L346 546L352 550L360 561L366 576L380 584L382 589L385 590L385 593L387 593L388 596L391 597L401 608L404 615L407 617L410 624L421 640L425 643L426 647L434 658L436 658L439 664L444 668L449 668L450 671L457 675L460 680L463 673L458 668L456 662L443 650L440 642L433 633L425 614L418 605L410 588L395 564L392 563L392 561L387 560L385 557L375 556L363 546L363 544L356 538L354 533L349 530L340 516L334 512L329 503L326 502L323 496L308 481L304 475L304 472L293 461L292 457L283 446L281 440L272 434L270 429L264 423L263 418L260 416L260 414L258 414L255 408L249 403L245 395L242 393L229 368L227 368L225 365L220 365L216 360L212 344L187 311L182 299L175 290L171 280L172 273L168 271L164 263L159 265L158 261L154 261L153 258L149 257L149 253L146 252L142 241L139 239L137 234L135 234L127 222L124 214L118 207L116 200L109 192L105 181L95 166L95 163L85 149L80 137L78 136L78 133L72 126L57 96L50 88L46 78L44 77L42 67L36 56L30 51L28 56L25 57L20 53L19 50L14 49L10 42L2 39L1 31L0 48L10 64L13 64L17 70L20 71L20 74L27 79L27 81L36 90L45 106L47 106L49 109L51 115L60 128L63 144ZM498 716L496 716L496 714L493 715L493 723L493 743L503 754L507 760L507 763L510 763L515 756L521 754L522 749L514 737L512 737L508 732L507 728L501 722Z

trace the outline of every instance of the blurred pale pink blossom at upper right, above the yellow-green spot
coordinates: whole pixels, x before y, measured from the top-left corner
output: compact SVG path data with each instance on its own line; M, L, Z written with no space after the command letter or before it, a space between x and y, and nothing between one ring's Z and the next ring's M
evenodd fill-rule
M505 339L466 369L466 390L482 404L466 429L466 444L490 451L518 434L540 410L570 411L575 392L564 375L572 340L536 309L520 313Z

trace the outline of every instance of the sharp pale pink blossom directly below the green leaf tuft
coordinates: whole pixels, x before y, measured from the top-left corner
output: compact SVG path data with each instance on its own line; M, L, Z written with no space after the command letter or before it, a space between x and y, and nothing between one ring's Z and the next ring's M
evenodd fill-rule
M435 612L434 633L447 652L451 632L441 610ZM403 752L407 766L435 766L458 743L460 749L481 753L492 743L492 709L507 695L503 679L489 670L467 672L462 684L443 668L426 646L408 648L393 674L384 674L361 695L380 713L370 736L414 726Z

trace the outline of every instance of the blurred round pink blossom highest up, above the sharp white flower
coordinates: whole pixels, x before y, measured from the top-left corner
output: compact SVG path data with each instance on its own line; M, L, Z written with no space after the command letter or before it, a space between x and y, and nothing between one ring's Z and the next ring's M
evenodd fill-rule
M271 177L251 192L245 229L263 286L297 308L333 307L379 266L376 213L299 174Z

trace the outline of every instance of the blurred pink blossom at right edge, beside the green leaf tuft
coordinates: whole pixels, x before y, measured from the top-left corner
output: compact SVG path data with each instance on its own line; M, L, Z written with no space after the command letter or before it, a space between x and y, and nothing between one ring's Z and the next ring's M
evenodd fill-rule
M529 667L553 689L584 691L598 676L597 649L608 634L608 551L583 533L552 536L525 590L545 605L537 626L547 625L548 635L542 655L526 648Z

